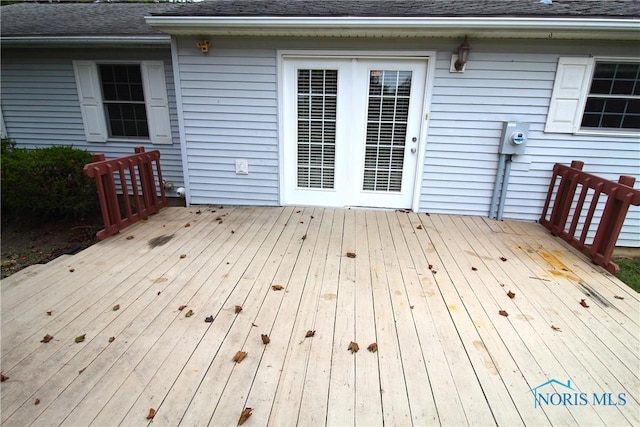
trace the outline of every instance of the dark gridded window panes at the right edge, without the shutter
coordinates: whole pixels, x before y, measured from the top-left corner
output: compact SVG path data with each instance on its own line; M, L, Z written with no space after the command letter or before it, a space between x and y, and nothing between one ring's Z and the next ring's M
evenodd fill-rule
M640 129L640 63L596 62L581 127Z

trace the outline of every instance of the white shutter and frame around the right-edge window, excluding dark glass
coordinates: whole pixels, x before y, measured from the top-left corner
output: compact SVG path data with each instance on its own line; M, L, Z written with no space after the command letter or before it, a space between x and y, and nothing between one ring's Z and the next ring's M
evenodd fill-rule
M549 111L545 123L545 132L553 133L571 133L574 135L591 135L591 136L616 136L616 137L635 137L638 132L627 129L596 129L581 128L584 109L591 90L591 82L596 62L640 62L640 57L617 57L617 56L591 56L591 57L560 57L556 69L556 77L553 83L553 92L549 102ZM584 66L582 76L576 83L577 87L573 87L572 92L567 94L562 87L562 78L567 66ZM579 92L579 93L577 93ZM555 120L558 117L557 110L560 102L568 101L573 104L573 109L568 114L572 114L573 118L569 122L567 120ZM568 115L567 114L567 115ZM566 118L566 115L565 115Z

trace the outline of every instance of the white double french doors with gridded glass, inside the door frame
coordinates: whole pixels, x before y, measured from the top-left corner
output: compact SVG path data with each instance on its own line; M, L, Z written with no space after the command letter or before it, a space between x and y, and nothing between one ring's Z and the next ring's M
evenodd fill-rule
M426 59L285 59L284 202L410 208L426 66Z

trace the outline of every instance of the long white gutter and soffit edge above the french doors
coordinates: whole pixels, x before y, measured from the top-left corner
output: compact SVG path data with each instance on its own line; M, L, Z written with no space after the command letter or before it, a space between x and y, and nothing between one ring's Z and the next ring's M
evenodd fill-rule
M510 33L518 38L521 33L525 38L640 40L640 20L635 18L147 16L145 20L151 27L176 35L357 36L375 32L393 36L412 32L424 36L476 31L476 36L487 37Z

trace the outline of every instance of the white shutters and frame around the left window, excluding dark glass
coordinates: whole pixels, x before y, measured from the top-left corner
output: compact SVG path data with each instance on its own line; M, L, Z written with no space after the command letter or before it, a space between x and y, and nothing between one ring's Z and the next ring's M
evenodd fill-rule
M109 137L98 64L140 65L149 138ZM73 61L73 69L87 142L173 143L163 61Z

